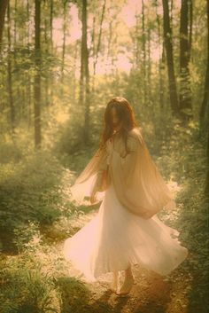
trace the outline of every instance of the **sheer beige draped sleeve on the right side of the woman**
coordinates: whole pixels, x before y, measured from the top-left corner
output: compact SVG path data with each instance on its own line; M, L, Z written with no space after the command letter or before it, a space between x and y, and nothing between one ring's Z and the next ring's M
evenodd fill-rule
M112 153L112 184L124 207L149 219L165 206L174 208L175 203L141 132L136 129L132 135L128 139L128 153L122 156L115 151Z

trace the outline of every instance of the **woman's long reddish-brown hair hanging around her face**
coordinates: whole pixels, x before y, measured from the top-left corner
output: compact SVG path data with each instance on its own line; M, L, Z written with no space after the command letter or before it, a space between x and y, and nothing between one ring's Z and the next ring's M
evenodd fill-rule
M132 106L126 98L115 97L112 98L105 108L104 112L104 130L100 139L100 148L103 148L105 142L112 137L113 134L113 125L112 125L112 115L111 109L115 107L116 112L119 116L120 121L122 122L122 127L120 129L120 134L124 140L125 146L127 148L127 137L128 131L138 127L138 123L135 120L135 113Z

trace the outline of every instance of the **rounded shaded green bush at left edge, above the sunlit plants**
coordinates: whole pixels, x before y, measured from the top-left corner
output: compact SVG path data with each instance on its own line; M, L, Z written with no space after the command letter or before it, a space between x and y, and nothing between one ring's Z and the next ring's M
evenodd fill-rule
M16 221L26 221L36 215L40 222L50 223L58 216L54 203L58 200L58 182L62 168L49 153L34 153L19 164L8 163L1 168L1 226L14 226ZM8 197L8 195L10 195ZM51 210L46 216L44 208ZM48 211L50 213L50 211Z

